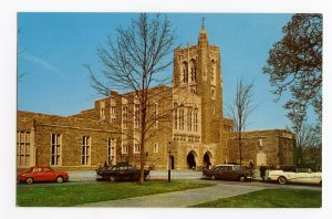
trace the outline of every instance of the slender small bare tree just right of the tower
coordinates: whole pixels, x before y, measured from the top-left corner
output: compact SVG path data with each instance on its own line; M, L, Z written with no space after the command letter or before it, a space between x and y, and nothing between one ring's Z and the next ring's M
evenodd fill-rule
M248 117L257 105L252 106L253 82L246 84L242 80L237 82L237 93L234 102L228 106L228 116L234 121L235 132L239 147L240 165L242 165L242 132L248 125Z

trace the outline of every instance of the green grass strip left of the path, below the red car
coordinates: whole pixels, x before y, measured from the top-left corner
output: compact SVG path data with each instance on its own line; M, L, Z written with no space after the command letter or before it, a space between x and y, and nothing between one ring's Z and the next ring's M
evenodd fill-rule
M89 202L179 191L212 186L186 180L137 182L81 182L18 185L19 207L70 207Z

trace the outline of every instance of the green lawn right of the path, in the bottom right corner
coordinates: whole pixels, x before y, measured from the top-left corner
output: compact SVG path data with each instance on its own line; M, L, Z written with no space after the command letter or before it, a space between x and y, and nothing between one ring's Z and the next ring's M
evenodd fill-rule
M320 208L322 191L266 189L231 198L221 198L191 207L199 208Z

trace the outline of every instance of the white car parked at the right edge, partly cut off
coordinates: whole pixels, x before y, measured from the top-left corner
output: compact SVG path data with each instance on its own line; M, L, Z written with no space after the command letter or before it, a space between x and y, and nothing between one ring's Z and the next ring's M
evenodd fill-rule
M268 179L279 184L322 184L322 173L314 173L311 168L293 168L288 170L270 170Z

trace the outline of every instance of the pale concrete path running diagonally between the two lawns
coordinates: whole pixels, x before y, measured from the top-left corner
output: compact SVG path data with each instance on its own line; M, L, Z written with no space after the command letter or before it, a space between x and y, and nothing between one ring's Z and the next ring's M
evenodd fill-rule
M143 197L127 198L121 200L110 200L94 204L86 204L79 207L158 207L158 208L184 208L193 205L248 194L264 189L261 186L248 184L226 185L188 189L168 194L157 194Z

